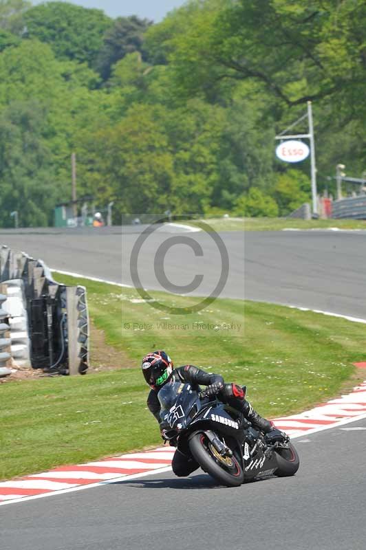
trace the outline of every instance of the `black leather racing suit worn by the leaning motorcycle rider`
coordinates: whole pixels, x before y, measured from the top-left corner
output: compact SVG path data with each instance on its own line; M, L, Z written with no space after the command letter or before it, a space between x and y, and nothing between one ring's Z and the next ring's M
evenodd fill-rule
M219 395L226 403L233 408L240 410L240 412L243 412L246 418L248 418L255 426L259 427L259 429L264 432L269 432L272 429L272 424L270 421L260 417L258 413L253 410L250 403L244 399L244 393L240 386L235 386L234 384L224 384L224 378L221 375L206 373L201 369L197 369L197 367L193 365L185 365L173 370L173 373L169 378L169 382L171 380L191 384L193 390L199 390L200 384L204 386L220 384L222 385L222 390L219 392ZM147 406L162 428L163 423L160 418L161 404L158 398L158 393L158 390L151 390L147 398ZM198 467L197 462L179 450L175 451L171 465L176 476L188 476L191 472L197 470Z

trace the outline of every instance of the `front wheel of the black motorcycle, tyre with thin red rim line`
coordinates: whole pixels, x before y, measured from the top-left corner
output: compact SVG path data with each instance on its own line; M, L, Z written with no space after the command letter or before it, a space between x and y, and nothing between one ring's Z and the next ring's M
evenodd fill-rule
M189 440L193 458L222 485L239 487L244 482L244 472L235 456L222 456L217 452L204 432L197 432Z

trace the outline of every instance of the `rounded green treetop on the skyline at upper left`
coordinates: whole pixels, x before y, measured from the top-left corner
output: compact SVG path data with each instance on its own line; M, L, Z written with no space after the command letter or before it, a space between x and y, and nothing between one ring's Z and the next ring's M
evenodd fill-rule
M86 62L94 66L105 31L112 19L102 10L82 8L66 2L34 6L24 15L26 36L50 44L56 58Z

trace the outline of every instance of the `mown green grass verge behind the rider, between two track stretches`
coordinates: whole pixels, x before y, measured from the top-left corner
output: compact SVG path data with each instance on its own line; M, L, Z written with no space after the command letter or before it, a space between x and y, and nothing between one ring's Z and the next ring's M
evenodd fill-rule
M57 274L56 280L76 283ZM120 351L120 368L2 384L0 478L161 443L138 369L141 356L154 348L169 351L176 365L191 362L248 384L252 404L268 417L299 412L351 388L357 382L352 362L366 360L364 325L340 318L224 299L200 314L173 316L141 302L133 289L78 283L88 289L94 325ZM151 294L166 305L186 305L186 298ZM180 327L163 328L162 322ZM193 328L196 322L221 328ZM226 330L223 323L241 326Z

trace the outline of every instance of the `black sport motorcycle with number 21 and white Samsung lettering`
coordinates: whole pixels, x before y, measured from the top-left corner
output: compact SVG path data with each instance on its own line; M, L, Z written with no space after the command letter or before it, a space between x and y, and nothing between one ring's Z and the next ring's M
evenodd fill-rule
M171 429L164 436L222 485L292 476L299 469L299 455L283 432L265 437L241 412L190 384L166 384L160 392L173 404L165 419Z

